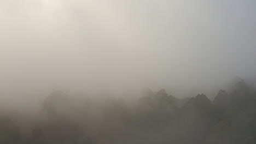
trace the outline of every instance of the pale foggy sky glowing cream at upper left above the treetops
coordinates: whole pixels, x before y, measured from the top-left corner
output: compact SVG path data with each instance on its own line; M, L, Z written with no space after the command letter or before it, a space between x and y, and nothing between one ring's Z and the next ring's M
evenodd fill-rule
M0 0L0 98L54 87L211 93L255 76L255 8L254 0Z

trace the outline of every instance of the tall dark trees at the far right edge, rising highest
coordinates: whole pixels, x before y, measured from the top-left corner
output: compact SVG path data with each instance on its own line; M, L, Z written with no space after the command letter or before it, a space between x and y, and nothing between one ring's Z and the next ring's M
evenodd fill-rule
M224 107L223 118L211 129L206 143L253 143L256 136L255 96L255 91L246 83L238 82L230 95L230 104Z

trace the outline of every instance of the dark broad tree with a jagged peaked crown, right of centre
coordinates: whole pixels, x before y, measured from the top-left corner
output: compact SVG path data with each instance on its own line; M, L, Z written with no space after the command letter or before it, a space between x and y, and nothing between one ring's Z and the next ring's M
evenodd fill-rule
M181 109L181 116L177 122L180 125L177 131L182 130L178 135L179 142L202 143L203 137L206 137L209 129L216 123L216 113L211 100L204 94L191 98Z

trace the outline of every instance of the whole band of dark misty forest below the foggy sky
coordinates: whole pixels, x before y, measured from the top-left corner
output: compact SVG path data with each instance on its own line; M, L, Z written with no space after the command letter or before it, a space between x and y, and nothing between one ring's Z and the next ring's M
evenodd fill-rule
M245 81L230 93L220 90L213 101L205 94L180 99L165 89L146 89L132 104L54 91L40 113L26 130L17 121L29 118L2 116L0 143L256 143L256 90Z

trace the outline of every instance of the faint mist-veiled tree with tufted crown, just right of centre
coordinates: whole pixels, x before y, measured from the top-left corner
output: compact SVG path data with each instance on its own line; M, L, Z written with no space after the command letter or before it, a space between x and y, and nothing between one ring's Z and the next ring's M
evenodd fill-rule
M165 89L157 93L147 92L142 99L138 101L135 118L138 127L159 128L171 122L177 113L176 98L168 95Z

